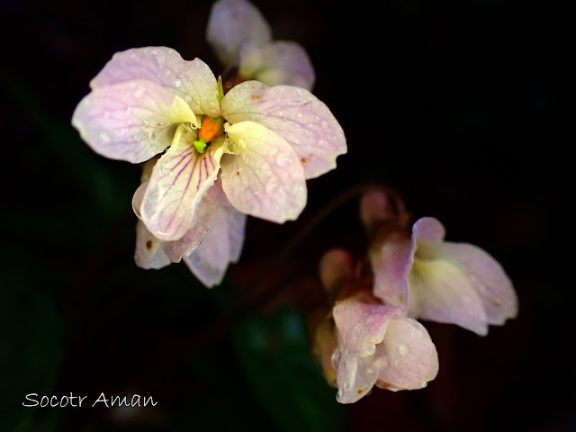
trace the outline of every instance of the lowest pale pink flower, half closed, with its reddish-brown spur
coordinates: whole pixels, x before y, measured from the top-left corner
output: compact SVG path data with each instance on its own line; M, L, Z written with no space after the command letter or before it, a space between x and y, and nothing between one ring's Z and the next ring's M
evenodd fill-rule
M322 258L320 276L327 290L356 283L351 263L341 250ZM332 310L338 340L332 357L338 401L356 402L374 385L392 391L426 387L438 372L437 350L428 331L408 318L403 307L385 306L370 291L352 292Z

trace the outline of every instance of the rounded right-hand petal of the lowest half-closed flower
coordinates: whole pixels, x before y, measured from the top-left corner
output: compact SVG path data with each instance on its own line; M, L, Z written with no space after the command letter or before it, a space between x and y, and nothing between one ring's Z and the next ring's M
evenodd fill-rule
M392 319L376 347L378 385L388 390L417 390L438 374L438 354L428 331L410 318Z

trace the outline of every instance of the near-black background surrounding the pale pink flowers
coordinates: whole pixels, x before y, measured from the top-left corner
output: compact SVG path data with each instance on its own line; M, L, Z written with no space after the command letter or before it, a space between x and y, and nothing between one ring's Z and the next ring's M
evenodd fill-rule
M2 2L1 429L576 430L573 140L561 130L572 11L519 0L255 4L275 39L308 50L314 93L348 154L309 182L297 222L249 219L239 265L209 291L184 265L133 264L139 167L96 156L69 122L118 50L166 45L218 74L204 40L211 2ZM357 201L281 266L273 259L340 193L374 182L400 191L416 218L442 220L447 239L496 257L520 312L487 338L425 323L437 380L342 407L311 362L306 317L322 301L322 252L363 253ZM23 409L30 392L158 404Z

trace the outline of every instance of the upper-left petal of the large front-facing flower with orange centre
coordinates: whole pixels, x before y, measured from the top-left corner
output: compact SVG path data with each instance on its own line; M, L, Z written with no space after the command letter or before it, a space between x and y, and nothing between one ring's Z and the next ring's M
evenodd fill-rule
M186 61L171 48L145 47L117 52L90 86L95 89L141 79L180 96L196 114L220 116L218 85L210 67L200 58Z

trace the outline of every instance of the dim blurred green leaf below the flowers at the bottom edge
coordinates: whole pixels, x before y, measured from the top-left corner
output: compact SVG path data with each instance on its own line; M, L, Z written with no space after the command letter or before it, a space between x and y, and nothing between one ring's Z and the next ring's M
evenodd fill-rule
M311 358L302 315L252 316L236 329L234 342L257 401L280 430L346 428L345 409Z

